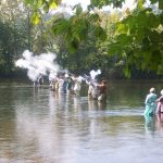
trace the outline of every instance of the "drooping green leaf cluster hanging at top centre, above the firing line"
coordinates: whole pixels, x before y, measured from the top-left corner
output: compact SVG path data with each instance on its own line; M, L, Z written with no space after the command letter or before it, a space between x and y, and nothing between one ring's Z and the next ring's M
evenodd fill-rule
M66 47L71 52L75 52L79 43L87 40L90 30L93 30L93 35L98 39L104 40L106 38L104 29L100 26L100 17L97 13L83 13L79 4L75 9L76 15L70 20L64 17L55 18L51 27L54 35L63 35Z

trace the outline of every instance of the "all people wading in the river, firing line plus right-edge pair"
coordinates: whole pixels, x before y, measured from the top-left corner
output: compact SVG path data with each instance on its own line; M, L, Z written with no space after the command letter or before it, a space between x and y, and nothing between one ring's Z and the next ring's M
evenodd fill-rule
M88 85L88 98L98 101L106 100L106 83L101 80L98 83L95 78L90 76L79 76L70 74L50 74L49 83L51 90L57 93L67 93L79 96L82 89L82 83L85 82ZM43 77L41 74L34 83L35 86L41 86L43 84ZM146 109L145 116L153 116L155 114L163 113L163 89L161 90L161 96L158 98L155 93L155 88L150 88L149 93L146 97Z

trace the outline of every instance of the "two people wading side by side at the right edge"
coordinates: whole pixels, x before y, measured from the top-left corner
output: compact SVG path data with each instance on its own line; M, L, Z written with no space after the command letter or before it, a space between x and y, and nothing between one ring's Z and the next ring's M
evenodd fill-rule
M163 89L160 93L161 96L158 98L155 88L150 88L145 101L145 116L153 116L161 113L163 114Z

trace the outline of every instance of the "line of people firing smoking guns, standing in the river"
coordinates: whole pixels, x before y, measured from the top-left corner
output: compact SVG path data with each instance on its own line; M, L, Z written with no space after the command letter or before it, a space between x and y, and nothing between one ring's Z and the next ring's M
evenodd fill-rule
M106 83L105 80L97 82L97 79L90 76L79 76L71 74L50 74L49 83L51 90L57 93L67 93L79 96L82 89L82 83L85 82L88 85L88 98L98 101L106 100ZM43 84L43 77L41 74L34 83L35 86L41 86Z

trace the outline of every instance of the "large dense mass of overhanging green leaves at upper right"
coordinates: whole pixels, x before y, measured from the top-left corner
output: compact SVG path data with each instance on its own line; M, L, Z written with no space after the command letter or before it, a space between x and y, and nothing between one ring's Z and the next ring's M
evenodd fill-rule
M116 41L111 45L110 53L124 58L125 75L129 67L155 71L163 74L163 29L162 15L156 15L150 8L136 10L117 24Z

